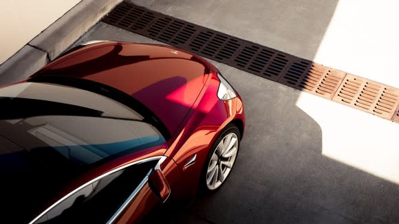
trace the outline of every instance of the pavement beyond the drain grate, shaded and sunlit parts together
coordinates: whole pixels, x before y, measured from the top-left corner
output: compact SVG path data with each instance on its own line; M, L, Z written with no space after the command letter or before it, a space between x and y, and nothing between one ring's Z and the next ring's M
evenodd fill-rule
M128 1L399 87L397 1Z

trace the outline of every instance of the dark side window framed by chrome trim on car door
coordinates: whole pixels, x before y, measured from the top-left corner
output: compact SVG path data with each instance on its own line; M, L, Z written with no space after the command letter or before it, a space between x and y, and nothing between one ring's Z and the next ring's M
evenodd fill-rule
M106 223L140 188L158 159L134 164L98 179L58 203L34 223Z

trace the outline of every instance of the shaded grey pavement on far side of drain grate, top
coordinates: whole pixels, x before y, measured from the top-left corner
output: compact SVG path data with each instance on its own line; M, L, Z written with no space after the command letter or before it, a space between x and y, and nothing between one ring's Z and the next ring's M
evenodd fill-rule
M338 0L129 0L197 25L312 60Z

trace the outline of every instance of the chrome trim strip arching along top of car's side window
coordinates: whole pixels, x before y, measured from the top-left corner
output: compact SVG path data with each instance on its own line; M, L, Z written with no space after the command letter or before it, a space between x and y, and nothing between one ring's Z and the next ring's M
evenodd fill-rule
M75 190L72 190L72 192L69 192L69 193L66 194L64 197L62 197L61 199L59 199L58 201L56 201L55 203L53 203L52 205L50 205L49 208L47 208L46 210L44 210L43 212L41 212L41 214L39 214L39 216L36 216L36 218L34 218L32 221L30 221L29 224L33 224L34 222L38 221L39 219L41 219L42 216L44 216L45 214L47 214L47 212L49 212L49 211L52 210L54 207L56 207L56 205L58 205L59 203L65 201L65 199L67 199L68 197L70 197L72 194L75 194L75 193L78 192L79 190L82 190L83 188L89 186L91 183L94 183L95 181L98 181L99 179L102 179L103 177L106 177L107 175L111 175L111 174L113 174L114 172L118 172L119 170L122 170L122 169L124 169L124 168L129 167L129 166L133 166L133 165L136 165L136 164L142 164L142 163L145 163L145 162L147 162L147 161L153 161L153 160L157 160L157 159L158 159L158 160L161 160L163 157L164 157L164 156L155 156L155 157L149 157L149 158L146 158L146 159L141 159L141 160L138 160L138 161L133 161L133 162L130 163L130 164L125 164L125 165L123 165L123 166L120 166L120 167L118 167L118 168L115 168L114 170L110 170L110 171L108 171L108 172L105 172L103 175L100 175L100 176L98 176L98 177L96 177L96 178L94 178L94 179L91 179L91 181L87 181L87 182L84 183L83 185L79 186L79 187L76 188ZM163 159L163 160L164 160L164 159ZM150 170L149 173L151 173L151 171L152 171L152 170ZM144 177L144 179L148 179L148 177L149 177L149 174L147 174L147 176ZM144 181L144 180L143 180L143 181ZM140 185L141 185L141 184L142 184L142 182L140 183ZM142 184L142 186L144 186L144 184ZM142 188L142 186L141 186L141 188ZM141 189L141 188L140 188L140 189ZM138 188L136 188L136 189L138 189ZM133 197L133 198L134 198L134 197ZM133 198L132 198L132 199L133 199ZM125 201L125 202L126 202L126 201ZM125 204L125 203L124 203L124 204ZM118 210L119 210L119 209L118 209Z

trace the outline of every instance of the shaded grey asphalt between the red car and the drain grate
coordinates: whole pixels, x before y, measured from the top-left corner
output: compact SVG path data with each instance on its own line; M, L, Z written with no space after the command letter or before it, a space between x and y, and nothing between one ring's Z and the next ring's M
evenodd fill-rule
M98 23L90 40L158 43ZM325 157L319 124L300 91L213 62L246 107L235 168L216 194L157 217L166 223L399 223L399 186ZM307 94L307 93L301 93Z

